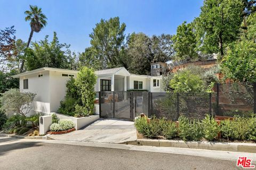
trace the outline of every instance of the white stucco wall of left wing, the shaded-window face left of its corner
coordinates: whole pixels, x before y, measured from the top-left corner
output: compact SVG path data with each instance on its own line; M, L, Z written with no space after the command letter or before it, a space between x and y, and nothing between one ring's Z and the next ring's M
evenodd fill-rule
M43 74L43 77L38 78L38 74ZM28 79L28 89L23 89L23 80ZM49 71L34 73L20 77L20 90L33 92L36 95L33 103L33 110L37 112L50 113L50 77ZM30 114L33 114L31 112Z

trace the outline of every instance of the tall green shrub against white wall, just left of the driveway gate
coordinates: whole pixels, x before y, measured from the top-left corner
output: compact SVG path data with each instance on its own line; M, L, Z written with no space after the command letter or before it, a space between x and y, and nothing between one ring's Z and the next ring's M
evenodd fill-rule
M85 107L89 115L94 114L94 87L97 81L97 77L93 69L84 67L77 74L77 79L75 81L78 88L78 92L82 97L82 106Z

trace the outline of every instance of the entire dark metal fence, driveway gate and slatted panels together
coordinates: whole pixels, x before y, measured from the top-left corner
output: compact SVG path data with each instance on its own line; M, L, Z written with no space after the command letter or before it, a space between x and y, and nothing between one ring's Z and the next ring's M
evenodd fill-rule
M132 120L140 113L178 120L180 115L202 119L206 114L249 116L256 113L256 84L216 84L214 92L125 92L98 93L100 116Z

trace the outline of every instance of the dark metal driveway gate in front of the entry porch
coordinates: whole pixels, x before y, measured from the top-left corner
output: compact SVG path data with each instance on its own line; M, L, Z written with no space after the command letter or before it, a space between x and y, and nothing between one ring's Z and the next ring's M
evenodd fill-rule
M147 112L147 96L148 92L100 91L100 116L133 120Z

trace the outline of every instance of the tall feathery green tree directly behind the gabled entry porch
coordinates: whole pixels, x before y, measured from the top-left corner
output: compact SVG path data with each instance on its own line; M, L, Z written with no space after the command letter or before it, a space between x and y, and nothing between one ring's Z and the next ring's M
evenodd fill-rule
M125 23L120 24L119 17L101 19L90 33L92 49L103 61L104 68L123 66Z

